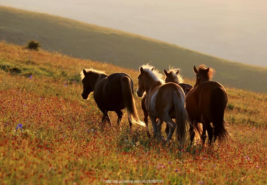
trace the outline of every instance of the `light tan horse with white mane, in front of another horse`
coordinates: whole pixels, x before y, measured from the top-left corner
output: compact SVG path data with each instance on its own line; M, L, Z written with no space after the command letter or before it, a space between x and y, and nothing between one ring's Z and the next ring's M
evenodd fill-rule
M187 112L185 109L185 93L182 87L175 83L164 83L163 75L149 64L140 67L138 75L137 95L142 97L146 93L145 107L151 119L154 137L161 135L161 124L165 121L170 128L167 141L176 129L176 137L182 142L186 136ZM175 116L176 121L172 121ZM159 119L157 125L157 118ZM176 128L177 126L177 128Z

